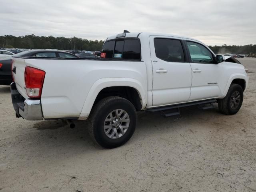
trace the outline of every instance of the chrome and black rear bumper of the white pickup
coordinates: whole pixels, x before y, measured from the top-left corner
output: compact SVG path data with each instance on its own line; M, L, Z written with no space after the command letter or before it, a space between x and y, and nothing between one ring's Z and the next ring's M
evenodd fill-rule
M12 105L16 112L16 117L26 120L43 120L40 100L25 99L18 92L16 84L11 84Z

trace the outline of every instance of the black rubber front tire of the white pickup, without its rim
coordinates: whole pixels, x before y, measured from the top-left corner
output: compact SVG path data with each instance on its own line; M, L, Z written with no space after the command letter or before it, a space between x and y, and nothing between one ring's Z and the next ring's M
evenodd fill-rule
M232 95L237 92L240 94L240 102L236 107L234 107L234 104L232 104ZM231 84L226 96L223 99L218 100L218 107L220 112L226 115L236 114L242 106L243 98L244 91L242 87L238 84Z

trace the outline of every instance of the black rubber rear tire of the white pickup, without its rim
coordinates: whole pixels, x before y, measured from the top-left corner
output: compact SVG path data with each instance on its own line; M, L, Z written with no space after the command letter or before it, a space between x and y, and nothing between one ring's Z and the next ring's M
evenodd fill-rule
M109 138L104 132L105 119L113 110L127 112L130 122L128 129L120 138ZM88 119L88 132L91 138L104 148L115 148L125 144L133 135L137 124L137 112L133 104L121 97L110 96L100 100L93 108Z

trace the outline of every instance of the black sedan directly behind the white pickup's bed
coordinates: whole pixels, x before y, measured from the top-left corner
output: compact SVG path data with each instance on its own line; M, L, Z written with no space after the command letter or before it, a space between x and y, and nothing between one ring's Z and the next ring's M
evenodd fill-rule
M67 53L64 51L55 50L30 50L24 51L15 56L26 56L26 57L51 57L51 58L78 58L74 54ZM12 57L6 57L0 59L0 85L10 85L12 83Z

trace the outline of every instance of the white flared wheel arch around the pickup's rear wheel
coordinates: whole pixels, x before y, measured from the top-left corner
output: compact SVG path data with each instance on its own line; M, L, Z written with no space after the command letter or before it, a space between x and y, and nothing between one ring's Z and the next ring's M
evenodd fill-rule
M146 107L146 92L138 80L132 78L102 78L97 80L90 88L78 119L86 120L93 105L96 104L96 102L98 102L100 99L104 98L104 94L106 94L108 90L116 91L120 89L122 92L126 90L134 93L135 100L133 97L121 97L132 102L137 110L142 110ZM118 94L106 94L106 96L118 96ZM136 98L140 99L140 103L136 101Z

